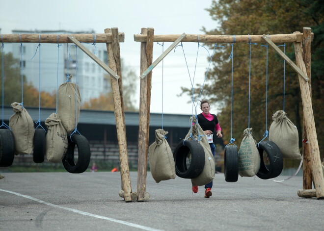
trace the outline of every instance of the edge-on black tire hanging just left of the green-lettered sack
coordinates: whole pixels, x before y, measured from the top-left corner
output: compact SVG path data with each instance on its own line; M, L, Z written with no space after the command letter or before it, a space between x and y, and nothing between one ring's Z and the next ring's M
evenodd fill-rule
M235 145L225 147L224 176L227 182L236 182L239 179L239 154Z

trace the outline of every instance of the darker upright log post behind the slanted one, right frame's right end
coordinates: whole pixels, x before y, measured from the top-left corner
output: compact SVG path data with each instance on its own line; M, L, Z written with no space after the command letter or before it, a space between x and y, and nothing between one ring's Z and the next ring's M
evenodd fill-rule
M311 28L304 27L303 28L303 60L306 67L306 73L309 77L309 93L310 97L312 97L311 91L311 56L312 56L312 40L311 40ZM303 116L303 130L302 130L302 139L307 140L307 127L305 125L305 118ZM302 143L302 153L303 153L303 189L312 189L312 166L311 166L311 158L310 158L310 150L308 143ZM315 192L314 192L315 194Z

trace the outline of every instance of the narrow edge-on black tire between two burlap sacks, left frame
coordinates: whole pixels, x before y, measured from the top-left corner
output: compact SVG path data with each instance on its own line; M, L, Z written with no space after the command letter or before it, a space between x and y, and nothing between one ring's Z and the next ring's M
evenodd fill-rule
M35 163L43 163L45 158L45 130L35 129L33 159Z

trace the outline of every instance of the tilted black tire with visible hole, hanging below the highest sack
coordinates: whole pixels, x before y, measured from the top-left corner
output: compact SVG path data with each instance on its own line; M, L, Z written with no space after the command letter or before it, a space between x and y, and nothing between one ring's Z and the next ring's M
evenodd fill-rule
M71 141L72 138L72 141ZM90 145L88 140L80 134L73 134L68 136L69 147L62 159L63 166L69 173L83 173L89 166L90 163ZM78 147L78 161L74 161L74 149Z

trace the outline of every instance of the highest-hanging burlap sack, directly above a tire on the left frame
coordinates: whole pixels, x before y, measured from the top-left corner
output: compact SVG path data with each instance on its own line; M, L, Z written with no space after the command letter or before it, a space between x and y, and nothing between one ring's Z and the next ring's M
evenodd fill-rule
M72 76L70 76L71 78ZM77 85L77 102L76 102L76 84L72 82L62 83L57 90L57 114L61 123L67 132L76 128L76 110L77 124L80 115L80 90ZM76 107L77 103L77 107Z

